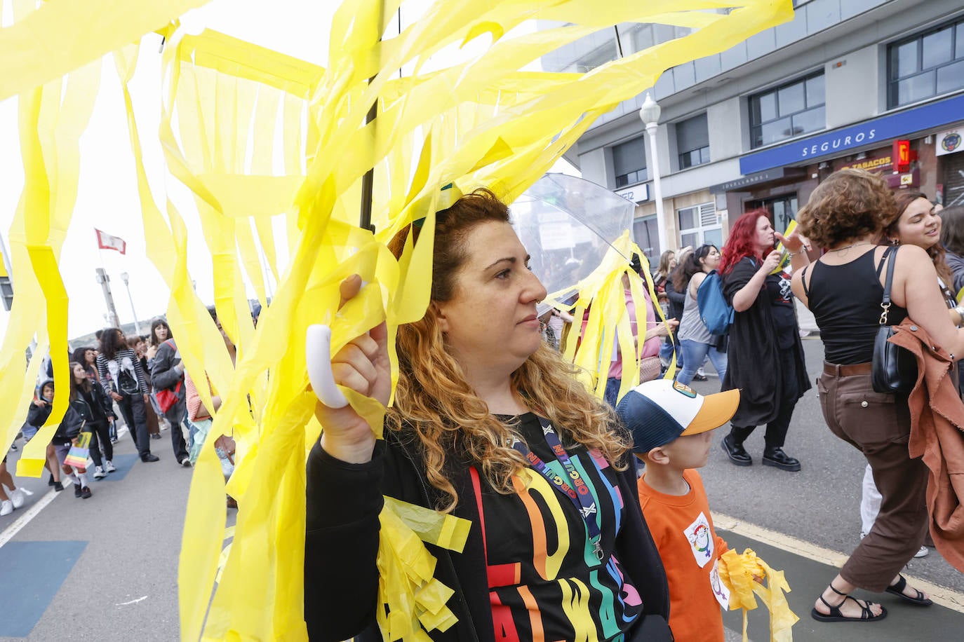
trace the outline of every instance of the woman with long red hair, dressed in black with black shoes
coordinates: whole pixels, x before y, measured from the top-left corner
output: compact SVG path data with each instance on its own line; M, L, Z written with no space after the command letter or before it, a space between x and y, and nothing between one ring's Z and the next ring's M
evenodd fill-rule
M766 424L763 465L799 471L800 462L783 450L793 407L810 389L803 359L790 275L778 270L779 238L790 251L792 266L810 263L805 242L795 234L776 234L766 210L753 210L736 219L723 246L720 274L723 295L735 311L727 357L730 365L723 390L740 390L739 408L730 434L721 446L736 466L750 466L753 458L743 442Z

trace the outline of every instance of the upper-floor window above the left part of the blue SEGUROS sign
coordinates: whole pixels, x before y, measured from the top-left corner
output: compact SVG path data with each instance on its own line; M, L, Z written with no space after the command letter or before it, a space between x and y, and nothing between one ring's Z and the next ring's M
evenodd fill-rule
M750 96L750 145L760 147L827 126L823 71Z

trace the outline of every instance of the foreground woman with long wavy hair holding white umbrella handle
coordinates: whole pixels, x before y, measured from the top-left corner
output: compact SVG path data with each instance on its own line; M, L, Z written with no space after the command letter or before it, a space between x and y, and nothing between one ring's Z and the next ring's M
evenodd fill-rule
M395 237L396 256L418 232ZM309 637L381 639L376 552L388 495L472 523L463 552L432 548L458 618L433 639L670 639L629 436L542 341L536 302L546 290L508 208L488 191L463 196L438 214L433 252L428 310L398 328L384 441L350 406L316 409L324 433L308 457ZM346 279L342 297L360 287ZM333 372L387 405L384 324L339 350Z

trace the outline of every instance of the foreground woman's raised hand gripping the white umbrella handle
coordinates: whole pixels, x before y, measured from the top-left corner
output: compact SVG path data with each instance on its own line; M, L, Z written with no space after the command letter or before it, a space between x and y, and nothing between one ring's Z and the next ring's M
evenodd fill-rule
M339 309L361 290L362 278L358 274L342 281ZM391 369L386 324L379 324L338 350L332 357L332 373L335 383L387 406L391 391ZM371 460L375 434L351 405L330 408L319 401L314 414L324 428L321 448L335 459L349 463L360 464Z

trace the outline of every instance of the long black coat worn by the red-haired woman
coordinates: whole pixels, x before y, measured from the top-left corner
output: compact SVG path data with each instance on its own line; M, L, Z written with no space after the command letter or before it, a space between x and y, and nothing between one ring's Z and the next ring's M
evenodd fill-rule
M733 305L733 297L745 286L760 264L744 258L723 277L723 295ZM777 324L766 288L760 289L757 300L749 309L736 312L730 326L730 344L727 347L726 376L722 390L738 388L739 407L731 420L738 426L763 425L773 421L780 413L781 404L795 402L810 390L810 377L803 358L800 333L794 328L791 355L784 359L781 353ZM782 363L790 364L784 368ZM795 377L796 395L785 399L787 390L784 377ZM792 386L790 386L792 388Z

